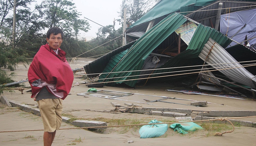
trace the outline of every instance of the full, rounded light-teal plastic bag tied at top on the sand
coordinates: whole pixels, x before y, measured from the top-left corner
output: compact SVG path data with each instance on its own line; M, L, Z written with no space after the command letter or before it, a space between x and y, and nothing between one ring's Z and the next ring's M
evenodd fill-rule
M162 123L157 120L152 120L151 123ZM140 138L154 138L162 136L168 130L167 124L152 124L152 125L144 125L140 128Z

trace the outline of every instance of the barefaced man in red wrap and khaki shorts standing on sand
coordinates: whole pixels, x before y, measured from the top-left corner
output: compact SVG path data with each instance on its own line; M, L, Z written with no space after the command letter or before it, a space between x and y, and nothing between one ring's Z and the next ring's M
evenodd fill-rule
M43 121L43 145L51 146L62 122L62 100L67 97L74 76L66 53L60 49L62 30L50 28L46 37L47 44L40 47L29 66L28 81Z

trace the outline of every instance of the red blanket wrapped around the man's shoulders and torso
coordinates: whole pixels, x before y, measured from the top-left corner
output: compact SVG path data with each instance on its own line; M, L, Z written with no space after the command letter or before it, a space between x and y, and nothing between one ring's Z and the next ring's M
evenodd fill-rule
M58 48L58 55L49 45L42 45L28 69L28 81L32 88L32 98L46 86L48 91L63 100L70 92L74 75L66 53ZM50 87L54 87L51 88ZM54 90L54 91L53 91ZM55 94L55 93L56 94Z

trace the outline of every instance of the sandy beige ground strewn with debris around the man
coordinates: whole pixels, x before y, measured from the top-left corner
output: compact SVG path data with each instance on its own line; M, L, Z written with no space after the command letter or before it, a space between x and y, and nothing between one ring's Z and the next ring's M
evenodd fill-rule
M92 60L75 60L70 66L72 69L83 67L83 65L89 63ZM27 65L28 67L28 65ZM9 71L8 71L9 72ZM20 81L22 79L27 79L27 68L22 64L18 65L18 70L15 71L17 74L14 80ZM74 79L74 84L76 82L81 82L81 79ZM25 86L28 86L28 82L25 82ZM121 106L126 105L124 103L137 104L141 107L156 107L156 108L182 108L200 111L210 111L210 110L243 110L243 111L256 111L256 101L254 100L241 100L234 98L216 97L216 96L204 96L204 95L186 95L177 92L169 92L166 89L178 89L169 84L150 84L144 87L131 88L121 88L121 87L107 87L96 88L98 90L112 90L118 92L127 93L137 93L132 96L118 97L117 99L122 100L110 100L93 96L78 96L77 93L87 92L89 88L85 85L72 87L68 97L63 101L64 114L71 114L77 118L93 119L93 118L108 118L108 119L143 119L145 123L150 122L150 120L157 119L158 121L172 121L173 117L163 117L163 116L150 116L145 114L131 114L117 112L116 114L111 114L106 111L113 110L111 102L117 102ZM26 91L28 89L25 89ZM114 92L113 92L114 94ZM144 95L139 95L144 94ZM26 103L29 105L36 104L35 101L30 98L31 92L25 92L21 94L18 90L15 92L5 92L4 95L11 100L18 101L21 103ZM153 95L153 96L150 96ZM107 95L106 95L107 96ZM176 97L186 100L176 100L168 99L164 101L173 102L163 103L163 102L153 102L151 104L145 104L147 100L159 100L162 99L160 96ZM205 107L193 107L190 106L188 100L198 100L207 101L208 103ZM178 103L178 104L177 104ZM186 105L182 105L186 104ZM195 114L191 115L195 117ZM222 117L223 118L223 117ZM230 117L228 117L230 118ZM243 118L239 120L256 122L256 118ZM17 108L6 107L0 104L0 131L12 131L12 130L31 130L31 129L43 129L41 118L32 115L27 112L20 111ZM62 123L61 128L74 127L72 125ZM223 132L223 131L222 131ZM43 131L31 131L31 132L9 132L0 133L0 146L25 146L25 145L43 145ZM142 145L142 146L169 146L169 145L233 145L233 146L256 146L256 128L251 127L235 127L235 131L232 133L226 133L223 136L209 136L207 130L200 130L196 132L189 132L188 134L182 135L180 133L174 132L171 129L159 138L147 138L140 139L139 129L129 127L125 129L123 127L119 128L108 128L105 131L91 132L87 130L59 130L56 133L53 146L63 146L63 145ZM81 140L78 140L81 139ZM128 144L128 140L133 140L134 143Z

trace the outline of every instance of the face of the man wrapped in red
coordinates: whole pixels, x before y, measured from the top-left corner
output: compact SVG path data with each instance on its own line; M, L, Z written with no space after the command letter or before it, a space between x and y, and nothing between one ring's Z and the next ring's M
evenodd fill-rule
M60 45L62 43L61 34L50 34L50 38L46 38L46 41L48 42L51 49L57 50L58 48L60 48Z

